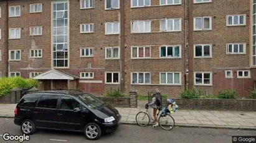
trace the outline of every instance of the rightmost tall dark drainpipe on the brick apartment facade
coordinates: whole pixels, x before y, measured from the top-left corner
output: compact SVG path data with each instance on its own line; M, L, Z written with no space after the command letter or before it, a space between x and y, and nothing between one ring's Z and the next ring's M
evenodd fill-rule
M188 20L188 24L189 24L189 33L188 33L188 37L189 37L189 58L188 58L188 70L189 70L189 90L192 90L194 87L194 82L193 82L193 75L194 75L194 68L193 68L193 63L194 63L194 58L193 58L193 54L194 54L194 50L193 50L193 1L189 0L188 1L188 16L189 16L189 20Z

